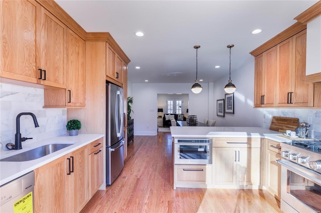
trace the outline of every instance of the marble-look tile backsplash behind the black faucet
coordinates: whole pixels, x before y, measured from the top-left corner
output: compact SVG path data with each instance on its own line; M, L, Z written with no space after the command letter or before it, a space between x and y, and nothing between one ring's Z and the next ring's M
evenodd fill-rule
M33 137L30 140L36 141L66 134L67 109L43 106L44 89L0 83L0 151L7 150L7 143L15 143L16 117L20 112L34 113L39 123L35 128L32 117L22 115L22 137Z

